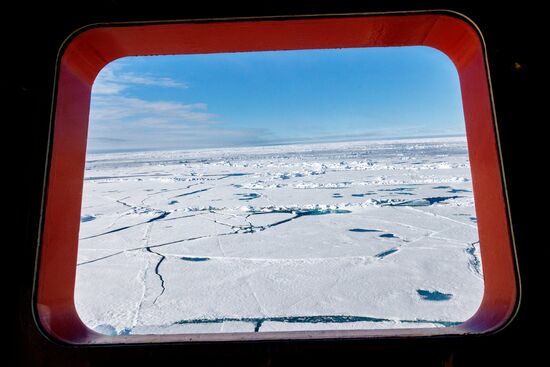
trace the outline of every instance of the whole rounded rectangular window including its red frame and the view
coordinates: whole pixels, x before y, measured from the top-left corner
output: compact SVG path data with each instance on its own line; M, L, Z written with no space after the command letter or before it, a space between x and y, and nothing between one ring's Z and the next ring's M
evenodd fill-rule
M53 136L36 306L64 342L479 333L515 307L455 16L92 28Z

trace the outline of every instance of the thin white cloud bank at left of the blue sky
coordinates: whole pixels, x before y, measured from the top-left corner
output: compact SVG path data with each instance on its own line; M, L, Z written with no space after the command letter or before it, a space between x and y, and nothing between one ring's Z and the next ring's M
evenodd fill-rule
M265 129L224 128L206 103L149 100L137 88L187 88L171 78L125 72L114 64L98 75L92 89L88 148L92 151L186 149L255 145ZM154 95L148 93L149 95Z

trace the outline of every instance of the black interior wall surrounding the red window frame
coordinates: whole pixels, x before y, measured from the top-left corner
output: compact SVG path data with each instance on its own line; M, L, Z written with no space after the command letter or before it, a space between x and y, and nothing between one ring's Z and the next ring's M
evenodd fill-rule
M543 247L547 244L536 228L537 205L528 198L536 195L530 179L540 177L534 164L536 137L544 116L534 101L535 47L542 33L540 14L529 1L488 7L464 1L318 1L245 2L218 5L190 2L150 1L139 5L130 1L79 1L42 4L20 2L11 10L3 27L5 75L8 79L8 116L5 116L7 143L14 164L16 183L4 189L15 203L10 205L9 241L4 241L10 269L6 281L9 313L7 335L12 345L12 365L104 366L175 362L201 365L422 365L474 366L515 365L543 355L535 349L538 338L534 325L544 320L541 294ZM532 2L531 2L532 3ZM74 348L53 344L38 332L32 318L32 285L40 222L42 185L47 159L48 129L55 79L57 52L74 30L81 26L112 21L216 18L241 16L331 14L392 10L450 9L471 18L484 34L488 48L495 108L502 142L510 199L512 224L517 243L522 279L521 307L514 321L494 335L417 340L364 340L323 342L265 342L248 344L156 345L129 347ZM12 133L11 130L14 129ZM544 157L544 155L542 156ZM542 189L539 188L539 190ZM541 194L542 195L542 194ZM13 223L12 223L13 222ZM7 238L7 237L6 237ZM544 321L542 321L544 322ZM539 340L540 341L540 340ZM519 346L522 343L522 346Z

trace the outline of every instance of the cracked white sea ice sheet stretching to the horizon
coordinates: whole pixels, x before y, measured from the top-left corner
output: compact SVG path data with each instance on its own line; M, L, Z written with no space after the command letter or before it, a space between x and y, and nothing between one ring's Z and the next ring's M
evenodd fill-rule
M98 332L445 327L482 296L464 138L87 156Z

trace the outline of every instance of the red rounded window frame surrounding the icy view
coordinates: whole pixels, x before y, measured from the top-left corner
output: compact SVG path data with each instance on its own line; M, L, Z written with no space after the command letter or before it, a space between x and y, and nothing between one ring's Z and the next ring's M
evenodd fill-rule
M101 335L82 323L74 286L88 116L92 84L107 63L138 55L421 45L445 53L460 78L485 276L474 316L449 328L154 336ZM519 287L485 51L475 26L457 14L93 26L66 43L56 93L34 304L36 320L50 338L85 345L464 335L497 330L515 312Z

